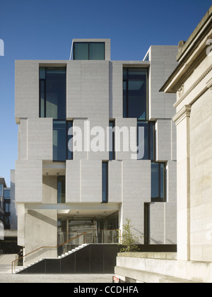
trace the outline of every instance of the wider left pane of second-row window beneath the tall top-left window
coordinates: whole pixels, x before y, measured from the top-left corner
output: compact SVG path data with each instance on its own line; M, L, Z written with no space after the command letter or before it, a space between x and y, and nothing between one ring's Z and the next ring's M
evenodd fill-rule
M53 122L53 161L66 161L66 122Z

